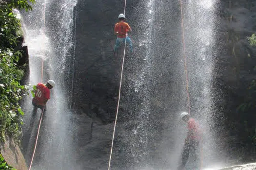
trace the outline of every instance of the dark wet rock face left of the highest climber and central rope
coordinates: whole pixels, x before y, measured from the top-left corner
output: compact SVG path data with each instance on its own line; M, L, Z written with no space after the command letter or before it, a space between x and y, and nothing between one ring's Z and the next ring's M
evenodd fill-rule
M137 2L128 2L127 8ZM115 119L120 59L113 54L114 26L123 9L119 0L78 0L76 6L73 104L103 122Z

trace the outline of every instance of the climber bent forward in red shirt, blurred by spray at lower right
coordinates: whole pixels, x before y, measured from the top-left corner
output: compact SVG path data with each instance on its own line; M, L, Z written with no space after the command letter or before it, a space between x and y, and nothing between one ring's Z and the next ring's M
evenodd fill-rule
M201 134L197 122L195 121L195 119L191 118L188 113L181 113L180 118L187 123L188 128L185 145L181 154L181 165L178 167L178 170L184 170L189 156L193 156L194 161L198 162L199 156L197 150Z

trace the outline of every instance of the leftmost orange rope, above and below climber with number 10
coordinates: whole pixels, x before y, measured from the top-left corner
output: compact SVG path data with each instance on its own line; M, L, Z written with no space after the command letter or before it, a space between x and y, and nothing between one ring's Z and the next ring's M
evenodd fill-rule
M46 0L44 0L44 9L43 9L43 48L42 48L42 50L44 50L44 43L45 43L45 41L44 41L45 40L45 35L44 35L44 32L45 32L45 6L46 6ZM43 52L43 54L44 54L44 52ZM43 82L43 57L44 56L42 56L41 82ZM40 131L40 127L41 127L43 112L44 112L44 109L45 109L44 107L45 107L45 105L43 106L43 109L42 109L42 112L41 112L41 116L40 116L40 121L39 121L39 126L38 126L38 134L37 134L37 138L36 138L34 152L33 152L33 155L32 155L32 158L31 158L31 162L30 162L30 165L29 165L29 170L31 170L31 167L32 167L32 164L33 164L33 160L34 160L34 156L35 156L36 149L37 149L39 131Z

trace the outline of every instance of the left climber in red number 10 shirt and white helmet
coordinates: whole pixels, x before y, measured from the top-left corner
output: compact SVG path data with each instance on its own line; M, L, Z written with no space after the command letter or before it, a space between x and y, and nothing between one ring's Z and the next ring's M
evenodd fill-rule
M32 100L32 104L34 106L34 112L37 112L37 109L40 108L43 110L46 102L50 99L50 89L55 86L55 82L53 80L49 80L46 85L39 83L34 89L35 97ZM45 109L45 108L44 108Z

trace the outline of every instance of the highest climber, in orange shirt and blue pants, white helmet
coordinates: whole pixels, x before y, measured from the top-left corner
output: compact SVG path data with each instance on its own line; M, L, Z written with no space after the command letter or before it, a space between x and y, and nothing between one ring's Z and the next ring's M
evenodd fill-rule
M115 25L115 31L114 31L114 34L118 35L117 40L116 40L116 44L115 44L115 47L114 47L114 53L117 52L121 43L125 43L125 39L126 39L126 42L130 46L130 52L133 52L132 41L129 38L129 36L127 35L127 32L132 31L132 29L129 26L129 24L124 21L125 16L123 14L120 14L118 16L118 18L119 18L119 22Z

